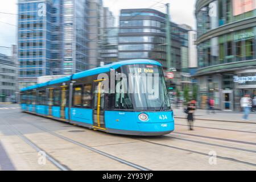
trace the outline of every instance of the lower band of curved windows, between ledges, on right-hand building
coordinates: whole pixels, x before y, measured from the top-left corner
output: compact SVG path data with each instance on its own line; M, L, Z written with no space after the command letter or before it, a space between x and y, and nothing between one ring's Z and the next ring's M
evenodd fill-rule
M199 68L256 59L256 27L210 38L197 46Z

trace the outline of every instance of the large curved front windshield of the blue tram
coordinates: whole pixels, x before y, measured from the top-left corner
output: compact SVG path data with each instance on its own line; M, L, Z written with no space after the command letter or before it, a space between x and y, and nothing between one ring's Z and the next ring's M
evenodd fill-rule
M143 111L171 110L162 67L151 64L126 65L121 72L119 75L122 78L116 82L115 106Z

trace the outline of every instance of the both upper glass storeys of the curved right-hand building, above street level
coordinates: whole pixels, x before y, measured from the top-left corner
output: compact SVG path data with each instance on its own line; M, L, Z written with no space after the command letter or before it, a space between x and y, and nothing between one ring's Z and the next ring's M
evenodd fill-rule
M201 5L203 1L197 1ZM256 0L218 0L197 6L197 53L199 68L256 59L255 23L243 21L256 18ZM232 28L225 28L238 23ZM249 27L248 27L249 26ZM225 31L219 31L222 28ZM218 34L218 36L214 34ZM207 38L205 38L207 36Z

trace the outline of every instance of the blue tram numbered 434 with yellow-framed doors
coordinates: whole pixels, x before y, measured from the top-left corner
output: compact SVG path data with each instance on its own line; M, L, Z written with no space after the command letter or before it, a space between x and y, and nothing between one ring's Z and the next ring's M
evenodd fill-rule
M158 90L152 99L155 91L143 92L147 81L142 75L150 74L158 81L150 84ZM137 92L131 85L137 85ZM162 65L154 60L120 61L29 86L20 90L20 105L27 113L107 133L154 136L174 131Z

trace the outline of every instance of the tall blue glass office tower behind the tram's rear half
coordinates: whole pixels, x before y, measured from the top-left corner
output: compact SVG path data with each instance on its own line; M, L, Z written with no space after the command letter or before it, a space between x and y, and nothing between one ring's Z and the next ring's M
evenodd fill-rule
M19 88L86 68L86 0L19 0Z

